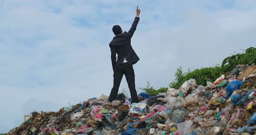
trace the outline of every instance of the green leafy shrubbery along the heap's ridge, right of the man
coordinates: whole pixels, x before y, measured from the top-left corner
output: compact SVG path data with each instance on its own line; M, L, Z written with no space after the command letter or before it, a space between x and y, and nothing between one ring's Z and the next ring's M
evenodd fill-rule
M189 79L195 79L198 85L206 86L207 81L214 82L221 74L227 74L232 71L238 64L253 64L256 63L256 48L248 48L244 53L234 54L223 60L222 64L217 64L213 67L202 67L191 71L188 69L187 72L182 70L182 67L178 67L175 72L175 79L169 84L169 87L179 89L181 85ZM157 94L159 92L165 92L168 88L161 87L155 90L150 86L149 82L146 88L140 88L141 90L149 94Z

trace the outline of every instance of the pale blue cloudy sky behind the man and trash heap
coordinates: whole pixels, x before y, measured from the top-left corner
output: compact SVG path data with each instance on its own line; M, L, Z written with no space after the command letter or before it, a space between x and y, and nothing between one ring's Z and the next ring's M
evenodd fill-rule
M128 31L137 5L137 93L147 81L168 87L179 66L214 66L256 47L255 0L0 0L0 133L33 111L109 96L112 26Z

